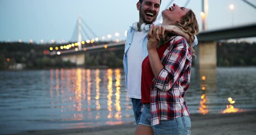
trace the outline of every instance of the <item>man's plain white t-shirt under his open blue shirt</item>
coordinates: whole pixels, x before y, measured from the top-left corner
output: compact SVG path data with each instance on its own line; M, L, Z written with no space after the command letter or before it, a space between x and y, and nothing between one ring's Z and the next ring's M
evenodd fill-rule
M130 98L141 99L142 42L146 35L147 32L135 31L131 46L127 51L127 96Z

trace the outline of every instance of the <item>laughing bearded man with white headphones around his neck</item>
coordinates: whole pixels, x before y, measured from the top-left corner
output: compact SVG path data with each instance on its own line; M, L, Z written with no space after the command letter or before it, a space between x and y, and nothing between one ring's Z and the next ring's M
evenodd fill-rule
M138 125L141 114L141 63L148 56L147 30L150 25L160 25L156 19L160 10L161 0L139 0L139 22L134 23L127 32L125 54L123 59L127 96L131 98L135 122ZM178 29L173 31L176 35L185 37L185 33ZM188 35L186 35L188 37ZM187 38L186 38L187 39ZM189 41L189 40L188 40ZM195 40L197 42L197 40Z

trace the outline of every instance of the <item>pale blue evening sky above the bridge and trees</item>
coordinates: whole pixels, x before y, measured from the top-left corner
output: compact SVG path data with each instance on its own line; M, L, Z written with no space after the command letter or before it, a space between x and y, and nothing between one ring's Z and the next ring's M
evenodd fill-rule
M170 1L162 0L160 11L165 10ZM256 0L248 1L256 5ZM41 39L44 42L51 42L52 39L56 42L68 42L72 38L79 14L99 39L110 34L112 40L124 40L125 31L139 19L137 2L138 0L0 0L0 42L17 42L19 39L22 42L32 39L36 43ZM186 2L187 0L174 0L179 6L184 6ZM256 23L256 9L243 0L208 0L208 3L208 29L232 26L232 14L233 26ZM230 4L234 5L233 11L229 8ZM187 8L194 11L202 28L202 0L190 0ZM120 33L119 37L115 36L115 32ZM95 38L93 35L91 37Z

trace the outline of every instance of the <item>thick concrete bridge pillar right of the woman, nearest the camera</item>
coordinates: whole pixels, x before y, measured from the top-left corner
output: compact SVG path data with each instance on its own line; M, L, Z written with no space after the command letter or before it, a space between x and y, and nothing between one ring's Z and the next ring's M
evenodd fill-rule
M216 42L200 42L199 47L199 67L215 68L217 67L217 50Z

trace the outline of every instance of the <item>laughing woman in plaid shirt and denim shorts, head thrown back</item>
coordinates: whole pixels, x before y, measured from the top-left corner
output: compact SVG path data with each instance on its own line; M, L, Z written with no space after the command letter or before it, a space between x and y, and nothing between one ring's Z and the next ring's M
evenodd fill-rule
M176 4L162 16L162 26L153 26L148 32L148 57L142 63L141 75L144 109L135 134L189 135L190 113L184 94L195 51L184 37L167 33L171 26L166 25L176 25L193 36L199 31L198 23L192 10Z

